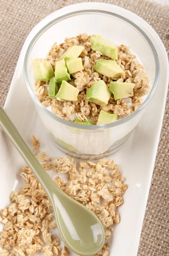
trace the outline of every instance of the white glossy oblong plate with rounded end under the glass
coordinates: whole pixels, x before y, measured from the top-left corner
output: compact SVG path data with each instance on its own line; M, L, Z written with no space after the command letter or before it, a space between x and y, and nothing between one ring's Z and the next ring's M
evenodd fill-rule
M52 13L32 29L23 45L6 99L5 110L30 147L31 136L34 134L40 139L41 149L47 151L50 156L60 157L63 155L49 143L46 131L37 116L34 103L23 79L23 59L29 42L40 28L54 17L80 9L101 9L115 12L135 22L149 35L158 52L160 67L162 67L158 89L132 137L124 148L112 157L120 166L129 188L124 195L124 204L118 209L121 221L115 226L111 237L110 255L136 256L163 121L169 77L165 48L152 27L132 12L105 3L80 3ZM25 163L2 132L0 134L0 151L0 209L2 209L10 204L11 191L22 185L19 174ZM2 229L2 225L0 228Z

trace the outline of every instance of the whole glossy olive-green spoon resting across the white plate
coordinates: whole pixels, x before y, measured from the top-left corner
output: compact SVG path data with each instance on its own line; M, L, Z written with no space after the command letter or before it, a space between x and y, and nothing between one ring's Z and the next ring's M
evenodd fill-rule
M105 242L105 232L97 216L58 188L34 157L3 108L0 108L0 127L45 189L52 203L57 228L64 244L80 256L97 254Z

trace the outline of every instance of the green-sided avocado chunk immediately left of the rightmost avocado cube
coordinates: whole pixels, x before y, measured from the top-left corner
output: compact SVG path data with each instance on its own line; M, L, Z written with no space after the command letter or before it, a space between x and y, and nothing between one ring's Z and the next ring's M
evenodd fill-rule
M103 80L95 82L92 87L86 90L86 99L100 106L107 105L110 96L111 92Z

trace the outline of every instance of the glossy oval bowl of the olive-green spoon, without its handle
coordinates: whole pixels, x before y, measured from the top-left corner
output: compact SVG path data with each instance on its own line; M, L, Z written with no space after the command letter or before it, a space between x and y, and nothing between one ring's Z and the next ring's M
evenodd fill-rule
M52 188L52 205L63 242L81 256L95 255L104 245L104 229L88 208ZM57 196L56 196L57 194ZM59 200L58 200L59 199ZM80 207L79 207L80 204Z

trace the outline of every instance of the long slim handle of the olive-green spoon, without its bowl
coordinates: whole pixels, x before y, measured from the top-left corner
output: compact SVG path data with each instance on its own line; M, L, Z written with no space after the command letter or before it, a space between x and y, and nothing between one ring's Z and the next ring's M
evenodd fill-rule
M34 175L37 177L37 180L39 180L40 184L46 190L46 193L48 194L49 198L51 198L48 188L50 188L53 185L54 183L53 180L48 175L48 173L43 169L43 167L38 162L36 157L34 157L34 154L32 154L32 151L29 149L29 147L26 145L23 138L20 136L19 132L17 131L17 128L14 126L14 124L11 122L11 120L9 119L9 117L1 107L0 107L0 127L3 129L6 135L10 138L11 142L14 144L17 151L19 151L20 155L29 165L32 172L34 172ZM55 189L57 189L57 186Z

